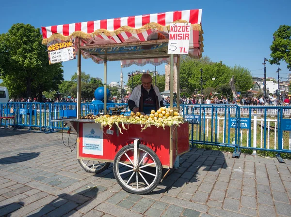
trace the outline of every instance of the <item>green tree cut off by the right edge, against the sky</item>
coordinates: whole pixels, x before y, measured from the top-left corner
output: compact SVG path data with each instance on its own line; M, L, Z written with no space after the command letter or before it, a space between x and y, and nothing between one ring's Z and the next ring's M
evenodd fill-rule
M270 64L280 65L280 61L284 61L291 70L291 26L280 26L274 32L273 38L274 41L270 46Z

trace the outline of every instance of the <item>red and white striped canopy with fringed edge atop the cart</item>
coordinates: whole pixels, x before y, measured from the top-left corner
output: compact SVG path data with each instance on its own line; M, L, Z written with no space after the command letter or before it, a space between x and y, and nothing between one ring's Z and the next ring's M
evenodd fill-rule
M74 40L79 37L81 38L82 47L87 45L91 45L90 48L92 48L92 45L100 47L103 44L122 46L122 43L154 40L151 39L154 33L159 32L166 35L171 23L184 22L191 23L192 27L189 54L199 58L203 52L201 15L202 10L197 9L42 27L43 43L51 44L55 41ZM99 55L94 55L92 50L89 52L86 49L82 49L82 55L84 58L92 58L97 63L103 63L103 59ZM131 59L127 61L125 66L146 63L159 65L167 61L168 59L164 57L144 60Z

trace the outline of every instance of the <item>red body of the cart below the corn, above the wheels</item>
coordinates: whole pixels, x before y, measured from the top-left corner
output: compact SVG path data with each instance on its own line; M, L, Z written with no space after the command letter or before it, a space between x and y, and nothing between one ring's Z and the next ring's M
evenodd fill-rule
M94 122L78 121L73 122L75 129L78 131L78 159L96 159L99 161L113 162L117 152L125 145L133 144L135 139L140 139L141 144L150 147L159 157L163 168L173 168L177 155L189 151L189 124L183 123L180 126L157 128L151 126L141 131L141 125L125 125L128 130L119 132L116 126L103 128L102 154L88 154L83 151L83 128L92 127L93 131L101 130L100 125ZM79 125L79 126L77 126ZM92 125L92 126L91 126ZM170 143L172 140L172 144ZM177 149L177 152L176 152Z

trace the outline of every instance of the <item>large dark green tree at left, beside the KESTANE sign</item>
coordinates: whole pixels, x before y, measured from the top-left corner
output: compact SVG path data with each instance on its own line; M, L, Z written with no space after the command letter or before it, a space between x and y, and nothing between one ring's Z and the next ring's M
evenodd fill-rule
M0 76L11 97L42 99L42 91L63 79L62 64L49 65L46 50L40 30L30 24L14 24L0 35Z

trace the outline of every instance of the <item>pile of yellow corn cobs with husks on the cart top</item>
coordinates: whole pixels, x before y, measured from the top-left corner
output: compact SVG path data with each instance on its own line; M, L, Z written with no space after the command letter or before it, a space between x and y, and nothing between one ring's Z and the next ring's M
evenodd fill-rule
M101 127L110 126L110 128L112 128L115 124L118 127L120 133L122 133L119 124L121 124L121 127L124 130L128 130L125 127L125 124L140 124L142 127L141 131L143 131L151 125L162 127L163 129L165 126L179 126L179 124L184 123L184 118L179 116L177 110L170 110L168 108L162 107L157 111L152 110L149 116L142 115L140 112L131 112L130 116L99 116L95 118L95 122L101 123Z

